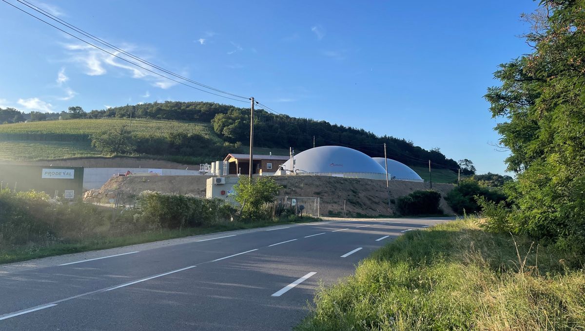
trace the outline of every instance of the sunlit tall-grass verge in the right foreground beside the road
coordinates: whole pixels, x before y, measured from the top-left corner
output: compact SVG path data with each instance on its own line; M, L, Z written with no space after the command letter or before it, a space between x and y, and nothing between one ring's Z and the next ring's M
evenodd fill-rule
M388 243L322 288L296 330L585 330L583 266L474 221Z

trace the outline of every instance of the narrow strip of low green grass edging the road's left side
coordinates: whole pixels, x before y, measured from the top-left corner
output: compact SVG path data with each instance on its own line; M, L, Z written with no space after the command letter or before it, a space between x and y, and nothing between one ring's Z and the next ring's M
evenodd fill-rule
M116 248L139 243L162 241L174 238L183 238L194 235L211 234L214 232L271 227L273 225L314 222L320 219L314 217L298 217L292 222L261 221L261 222L232 222L230 224L214 225L212 227L185 228L185 229L160 229L158 231L143 232L140 234L118 236L112 238L86 238L79 242L53 243L48 246L29 245L11 249L0 248L0 264L19 262L41 257L57 256L71 253L88 252Z

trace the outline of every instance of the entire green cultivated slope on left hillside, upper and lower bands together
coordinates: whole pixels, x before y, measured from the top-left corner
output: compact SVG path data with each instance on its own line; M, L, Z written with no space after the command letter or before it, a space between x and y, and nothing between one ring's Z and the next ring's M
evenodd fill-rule
M89 136L129 124L128 119L82 119L3 124L0 126L0 159L25 161L100 155ZM207 123L133 119L137 137L164 137L171 132L198 134L221 142Z

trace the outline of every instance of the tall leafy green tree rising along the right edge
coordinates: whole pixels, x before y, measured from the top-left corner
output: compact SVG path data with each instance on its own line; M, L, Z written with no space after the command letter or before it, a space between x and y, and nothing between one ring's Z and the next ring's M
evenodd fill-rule
M510 149L512 228L585 253L585 2L549 0L524 19L532 53L500 65L487 90L495 130Z

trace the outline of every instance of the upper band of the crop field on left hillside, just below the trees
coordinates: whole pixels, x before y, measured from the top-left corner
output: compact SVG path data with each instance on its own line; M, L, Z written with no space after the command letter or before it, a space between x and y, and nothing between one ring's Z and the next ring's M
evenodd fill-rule
M0 125L0 141L86 141L88 136L130 124L129 119L82 119L38 121ZM220 141L211 126L205 123L133 119L132 133L138 137L163 137L171 132L197 134Z

